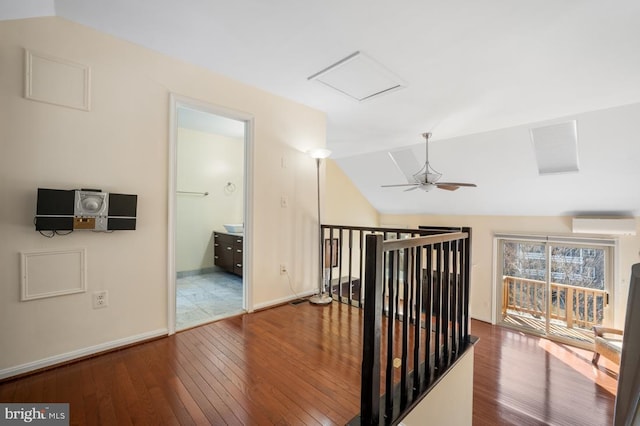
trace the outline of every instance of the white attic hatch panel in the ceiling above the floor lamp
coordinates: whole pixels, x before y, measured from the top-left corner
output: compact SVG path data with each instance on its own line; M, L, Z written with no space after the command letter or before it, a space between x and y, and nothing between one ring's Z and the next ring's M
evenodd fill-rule
M308 80L316 80L360 102L405 86L398 76L362 52L347 56Z

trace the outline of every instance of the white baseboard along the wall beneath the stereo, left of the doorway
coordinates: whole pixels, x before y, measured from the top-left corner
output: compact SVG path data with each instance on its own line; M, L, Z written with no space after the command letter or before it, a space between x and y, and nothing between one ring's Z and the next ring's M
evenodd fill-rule
M67 361L72 361L77 358L94 355L100 352L108 351L110 349L119 348L121 346L142 342L144 340L166 336L167 334L168 330L166 328L158 329L135 336L125 337L123 339L113 340L111 342L101 343L99 345L90 346L88 348L78 349L64 354L55 355L49 358L40 359L38 361L28 362L26 364L17 365L15 367L5 368L0 370L0 379L6 379L8 377L17 376L19 374L28 373L30 371L39 370L41 368L50 367L52 365L61 364Z

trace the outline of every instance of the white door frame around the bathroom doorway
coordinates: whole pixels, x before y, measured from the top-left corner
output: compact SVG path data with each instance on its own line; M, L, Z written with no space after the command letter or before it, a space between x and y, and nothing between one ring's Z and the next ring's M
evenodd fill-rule
M178 169L178 108L188 107L214 115L242 121L245 123L244 133L244 238L242 260L242 307L247 312L253 311L253 298L251 291L253 283L253 145L254 145L254 118L251 114L213 105L199 99L182 96L176 93L169 94L169 155L168 155L168 181L167 181L167 329L169 335L176 332L176 185Z

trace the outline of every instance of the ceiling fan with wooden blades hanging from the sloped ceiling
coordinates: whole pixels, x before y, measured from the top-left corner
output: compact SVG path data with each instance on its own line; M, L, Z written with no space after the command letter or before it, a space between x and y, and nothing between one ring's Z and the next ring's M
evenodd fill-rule
M437 172L431 165L429 164L429 138L431 137L431 133L423 133L422 136L425 139L426 145L426 161L424 166L417 172L413 172L417 170L419 167L418 162L416 161L415 156L413 155L413 151L411 149L405 149L402 151L394 151L390 152L389 156L395 163L395 165L400 169L400 171L407 177L408 183L401 183L397 185L382 185L383 188L393 188L393 187L404 187L408 186L410 188L406 189L406 191L413 191L415 189L422 189L423 191L431 191L433 188L445 189L447 191L455 191L460 187L476 187L474 183L462 183L462 182L440 182L439 179L442 176L442 173Z

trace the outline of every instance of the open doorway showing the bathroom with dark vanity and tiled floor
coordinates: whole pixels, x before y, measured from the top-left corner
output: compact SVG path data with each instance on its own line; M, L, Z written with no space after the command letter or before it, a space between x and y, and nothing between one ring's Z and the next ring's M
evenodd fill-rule
M247 146L251 119L172 96L170 333L247 309ZM219 260L232 236L236 268Z

